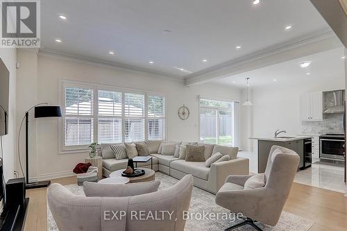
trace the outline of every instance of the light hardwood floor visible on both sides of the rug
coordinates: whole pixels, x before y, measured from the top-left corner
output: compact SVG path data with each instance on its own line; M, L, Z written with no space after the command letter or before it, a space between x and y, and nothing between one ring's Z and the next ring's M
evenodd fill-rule
M77 183L77 178L60 178L52 182L69 185ZM24 230L46 230L46 189L27 190L26 196L30 202ZM294 183L284 210L314 221L310 231L347 230L347 198L335 191Z

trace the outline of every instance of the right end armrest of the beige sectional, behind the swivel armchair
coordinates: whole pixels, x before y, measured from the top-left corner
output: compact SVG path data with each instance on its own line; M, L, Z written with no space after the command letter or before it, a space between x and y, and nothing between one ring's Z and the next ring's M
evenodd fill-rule
M210 176L208 181L213 184L212 191L217 191L224 185L226 178L230 175L248 175L249 160L237 157L234 160L217 162L211 164ZM212 185L211 185L212 186Z

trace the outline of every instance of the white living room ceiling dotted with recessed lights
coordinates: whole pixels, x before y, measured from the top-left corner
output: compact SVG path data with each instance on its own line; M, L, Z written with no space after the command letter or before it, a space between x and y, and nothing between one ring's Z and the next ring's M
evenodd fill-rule
M328 28L309 0L252 2L44 0L42 50L182 77Z

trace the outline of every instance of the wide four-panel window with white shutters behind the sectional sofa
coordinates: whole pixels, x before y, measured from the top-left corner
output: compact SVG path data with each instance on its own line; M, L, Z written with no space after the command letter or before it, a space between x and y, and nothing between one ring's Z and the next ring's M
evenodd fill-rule
M165 139L165 97L63 81L65 151L92 142ZM95 109L95 110L94 110Z

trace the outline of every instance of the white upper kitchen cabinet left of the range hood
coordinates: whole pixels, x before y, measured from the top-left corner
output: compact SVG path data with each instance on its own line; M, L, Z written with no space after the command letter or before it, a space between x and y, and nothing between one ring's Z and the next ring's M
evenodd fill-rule
M306 93L301 96L301 120L323 120L323 92Z

